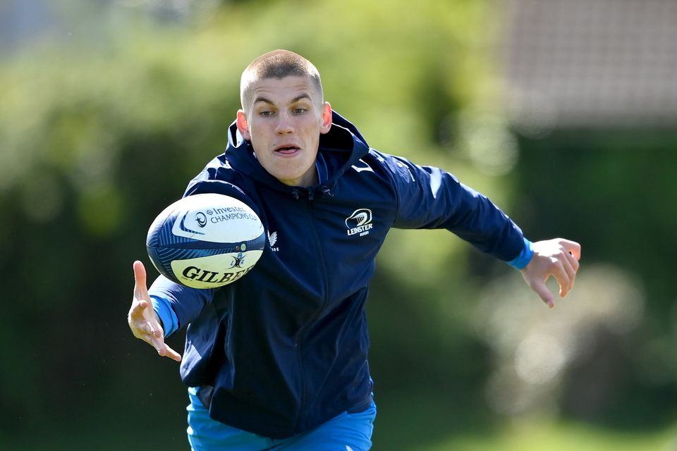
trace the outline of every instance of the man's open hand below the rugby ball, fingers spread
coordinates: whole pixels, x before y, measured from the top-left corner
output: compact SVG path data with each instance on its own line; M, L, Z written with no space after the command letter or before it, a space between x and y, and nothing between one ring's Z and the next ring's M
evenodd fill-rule
M154 347L161 357L181 362L181 354L164 342L164 330L148 295L146 268L140 261L134 262L134 297L127 322L134 336Z

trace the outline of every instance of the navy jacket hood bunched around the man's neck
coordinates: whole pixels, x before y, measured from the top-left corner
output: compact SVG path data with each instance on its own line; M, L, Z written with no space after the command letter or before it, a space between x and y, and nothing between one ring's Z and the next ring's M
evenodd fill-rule
M332 121L329 132L319 137L319 153L327 163L327 180L322 182L322 191L331 192L336 180L369 152L369 145L362 134L350 121L336 111L331 111ZM250 141L245 140L233 122L228 127L226 160L238 171L277 190L298 192L298 187L284 185L270 175L257 161ZM311 188L312 189L312 188Z

